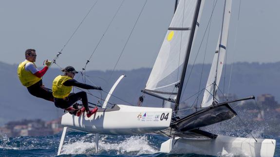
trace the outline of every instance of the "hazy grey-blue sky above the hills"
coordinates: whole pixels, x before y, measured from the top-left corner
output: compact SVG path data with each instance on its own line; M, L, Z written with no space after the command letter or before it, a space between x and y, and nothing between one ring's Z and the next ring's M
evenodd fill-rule
M125 0L93 54L87 70L112 70L146 0ZM52 60L96 0L0 0L0 61L19 64L28 48L37 50L37 65ZM62 51L57 63L81 70L90 58L122 0L98 0ZM152 67L174 12L175 0L148 0L125 47L117 70ZM207 0L191 63L205 33L214 0ZM280 61L280 0L233 0L227 62ZM223 0L211 21L205 63L216 48ZM237 32L236 32L237 31ZM206 33L207 35L207 33ZM195 63L202 63L206 36ZM235 45L235 46L234 46ZM54 65L53 67L56 68Z

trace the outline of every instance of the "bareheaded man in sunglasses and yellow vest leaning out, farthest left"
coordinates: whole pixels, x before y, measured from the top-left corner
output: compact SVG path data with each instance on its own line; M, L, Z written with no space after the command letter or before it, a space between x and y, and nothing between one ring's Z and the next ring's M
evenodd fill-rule
M54 101L53 93L42 83L42 76L47 72L52 62L46 60L46 66L38 70L36 62L36 50L28 49L25 51L25 60L19 64L18 76L21 84L27 87L29 93L38 98Z

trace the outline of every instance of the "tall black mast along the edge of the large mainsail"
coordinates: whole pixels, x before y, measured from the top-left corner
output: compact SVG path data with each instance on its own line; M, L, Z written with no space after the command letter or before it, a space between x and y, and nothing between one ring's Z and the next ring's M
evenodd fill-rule
M192 41L193 41L193 37L194 37L194 33L195 33L195 27L196 27L196 23L197 23L198 14L199 14L200 4L201 4L201 0L198 0L196 3L194 18L193 18L192 26L191 26L191 32L190 32L190 36L189 36L189 40L188 40L188 44L187 44L187 51L186 51L185 61L184 61L181 79L180 79L180 83L179 83L179 89L178 89L178 93L177 93L176 100L175 100L175 107L174 107L175 111L177 111L179 108L180 97L182 94L182 89L183 89L183 84L184 84L184 80L185 80Z

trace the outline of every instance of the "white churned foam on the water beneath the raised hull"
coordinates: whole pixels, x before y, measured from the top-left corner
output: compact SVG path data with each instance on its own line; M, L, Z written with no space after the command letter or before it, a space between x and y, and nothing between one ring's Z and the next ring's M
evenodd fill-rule
M92 142L85 141L89 138ZM110 141L108 138L108 136L100 137L98 142L99 153L113 152L115 155L141 155L159 152L157 148L151 146L147 136L131 136L119 141ZM61 154L94 154L94 150L94 137L87 136L87 138L82 138L73 143L64 144Z

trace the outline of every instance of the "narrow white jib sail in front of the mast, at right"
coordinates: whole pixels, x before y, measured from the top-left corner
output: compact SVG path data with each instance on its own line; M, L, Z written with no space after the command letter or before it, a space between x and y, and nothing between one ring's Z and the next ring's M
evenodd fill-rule
M212 105L213 103L213 93L217 92L223 65L224 65L224 58L225 58L225 52L226 52L226 45L227 45L227 36L228 36L228 27L229 27L229 20L230 20L230 14L231 14L231 3L232 0L225 0L224 4L224 20L222 25L222 30L220 33L220 37L218 40L218 45L215 51L215 55L213 58L211 70L208 76L208 80L206 83L203 101L202 101L202 107L207 107ZM219 58L219 59L218 59ZM216 76L216 83L215 83L215 76ZM214 91L214 84L215 84L215 91ZM218 96L215 94L215 101L218 101Z

